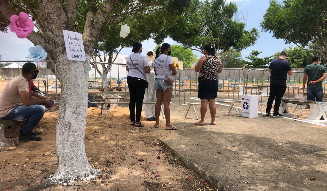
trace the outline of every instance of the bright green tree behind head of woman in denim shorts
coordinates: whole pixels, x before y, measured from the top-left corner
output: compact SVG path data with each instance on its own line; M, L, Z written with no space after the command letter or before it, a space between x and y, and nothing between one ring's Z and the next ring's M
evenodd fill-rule
M160 45L157 45L153 50L156 51ZM171 57L177 57L178 61L183 62L183 68L191 68L191 64L198 61L197 55L195 55L190 49L184 48L181 45L171 45Z

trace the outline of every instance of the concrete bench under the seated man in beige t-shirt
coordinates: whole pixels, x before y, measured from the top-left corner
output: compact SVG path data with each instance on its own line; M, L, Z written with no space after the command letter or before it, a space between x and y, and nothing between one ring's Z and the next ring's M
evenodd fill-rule
M19 141L19 132L22 128L22 125L25 123L25 121L11 121L11 120L3 120L0 118L0 148L3 148L5 146L10 146L18 143ZM7 138L5 136L5 129L11 129L10 131L18 135L18 137L14 138ZM17 133L18 132L18 133Z

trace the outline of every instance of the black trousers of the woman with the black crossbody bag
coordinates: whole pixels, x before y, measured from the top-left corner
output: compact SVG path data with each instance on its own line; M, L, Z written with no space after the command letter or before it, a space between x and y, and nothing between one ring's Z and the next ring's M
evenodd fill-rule
M130 121L141 121L142 104L145 93L146 81L140 78L127 77L129 89L129 115ZM136 102L136 120L135 120L135 102Z

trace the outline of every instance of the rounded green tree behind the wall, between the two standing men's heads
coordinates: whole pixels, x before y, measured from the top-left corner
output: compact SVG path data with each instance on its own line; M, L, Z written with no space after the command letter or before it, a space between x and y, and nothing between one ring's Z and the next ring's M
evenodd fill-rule
M302 49L300 47L290 46L284 49L287 54L287 61L291 64L292 68L303 68L308 64L312 64L312 56L314 54L309 49ZM273 55L274 59L279 57L280 52Z

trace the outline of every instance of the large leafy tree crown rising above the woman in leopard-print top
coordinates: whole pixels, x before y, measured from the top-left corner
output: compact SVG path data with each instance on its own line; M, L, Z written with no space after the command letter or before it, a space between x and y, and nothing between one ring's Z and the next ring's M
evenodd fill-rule
M217 55L241 51L254 45L259 33L255 28L245 30L244 22L233 19L236 14L235 3L192 0L169 31L169 36L184 47L200 52L205 44L213 44Z

